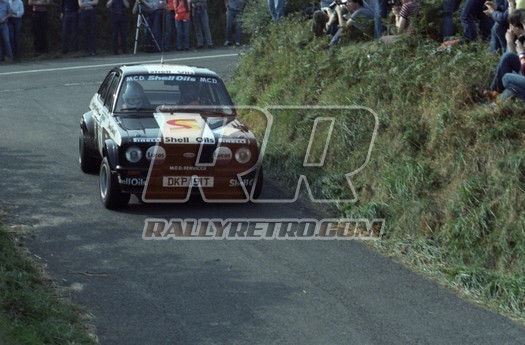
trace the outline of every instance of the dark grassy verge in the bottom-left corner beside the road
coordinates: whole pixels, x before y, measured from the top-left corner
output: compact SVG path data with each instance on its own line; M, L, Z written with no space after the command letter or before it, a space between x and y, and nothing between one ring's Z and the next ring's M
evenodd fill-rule
M81 315L0 225L0 344L95 344Z

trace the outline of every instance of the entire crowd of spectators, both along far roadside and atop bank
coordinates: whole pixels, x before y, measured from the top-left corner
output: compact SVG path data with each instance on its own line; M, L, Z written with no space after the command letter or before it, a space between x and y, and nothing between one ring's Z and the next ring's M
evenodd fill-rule
M133 6L130 2L134 1ZM225 46L241 44L241 17L246 0L224 0L226 7ZM284 0L267 0L274 22L284 17ZM33 44L36 54L48 52L48 12L51 0L28 0ZM78 50L78 27L82 29L86 54L96 55L96 7L98 0L61 0L62 53ZM112 51L128 52L129 8L144 24L149 51L169 51L173 38L177 50L190 49L193 24L197 48L213 48L207 0L106 0L111 10ZM463 28L455 33L454 13L459 11ZM418 0L320 0L311 11L315 36L329 36L330 46L344 39L395 42L413 33L420 12ZM22 0L0 0L0 62L19 59L24 4ZM142 19L144 22L142 22ZM478 96L525 102L525 0L445 0L442 8L442 35L445 44L488 42L489 50L502 54L489 88ZM176 35L175 35L176 33ZM120 42L119 42L120 41ZM120 48L120 51L119 51Z

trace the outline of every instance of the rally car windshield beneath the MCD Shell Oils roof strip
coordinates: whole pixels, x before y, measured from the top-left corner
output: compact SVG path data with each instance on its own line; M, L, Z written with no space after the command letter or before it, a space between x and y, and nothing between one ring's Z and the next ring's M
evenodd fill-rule
M219 113L222 109L233 108L228 91L219 78L148 74L124 78L115 111L154 111L165 106L202 106L209 112Z

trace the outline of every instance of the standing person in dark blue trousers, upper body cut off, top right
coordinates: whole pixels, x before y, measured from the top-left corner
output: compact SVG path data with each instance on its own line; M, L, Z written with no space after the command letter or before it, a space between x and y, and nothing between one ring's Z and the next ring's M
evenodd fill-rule
M476 22L479 22L481 38L485 41L490 39L490 32L494 22L492 18L483 13L485 0L466 0L461 11L461 24L463 25L463 38L465 41L475 41L478 36Z

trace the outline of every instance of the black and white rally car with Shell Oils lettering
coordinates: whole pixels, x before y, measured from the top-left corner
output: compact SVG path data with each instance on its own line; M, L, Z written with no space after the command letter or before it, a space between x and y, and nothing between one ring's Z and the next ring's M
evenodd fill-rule
M123 65L107 74L80 120L79 162L99 172L118 208L144 202L246 202L262 188L259 145L221 78L196 67Z

